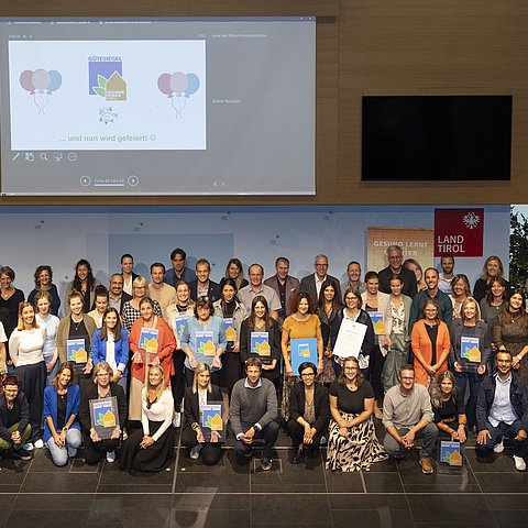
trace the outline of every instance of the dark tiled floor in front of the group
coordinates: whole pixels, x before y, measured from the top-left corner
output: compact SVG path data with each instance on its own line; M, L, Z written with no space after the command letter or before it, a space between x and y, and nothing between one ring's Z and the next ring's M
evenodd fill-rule
M370 472L332 473L323 455L287 461L280 433L273 469L238 465L226 448L217 466L176 447L169 471L130 475L117 464L82 460L58 469L38 450L31 462L0 461L0 527L351 527L487 528L528 525L528 473L509 449L482 463L466 449L461 475L424 475L411 452ZM526 522L526 524L525 524Z

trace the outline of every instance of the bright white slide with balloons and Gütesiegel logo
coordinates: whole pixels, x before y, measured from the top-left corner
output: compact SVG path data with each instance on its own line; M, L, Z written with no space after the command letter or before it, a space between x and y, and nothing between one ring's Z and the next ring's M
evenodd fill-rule
M206 148L205 41L11 41L9 79L12 150Z

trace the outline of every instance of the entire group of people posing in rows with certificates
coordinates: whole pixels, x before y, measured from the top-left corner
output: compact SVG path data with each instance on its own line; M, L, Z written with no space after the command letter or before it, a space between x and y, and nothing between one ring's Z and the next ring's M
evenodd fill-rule
M352 261L343 284L328 274L326 255L316 256L315 273L301 280L289 275L286 257L277 258L266 280L262 265L249 266L248 280L242 263L231 258L217 284L207 260L193 271L176 249L170 270L151 265L151 282L134 273L132 255L123 255L108 288L82 258L64 302L50 266L35 271L28 301L4 266L0 452L29 459L45 444L54 463L64 465L82 443L94 464L105 455L113 462L120 447L121 468L160 471L174 457L182 416L183 443L206 464L221 455L228 419L241 459L262 438L264 470L272 468L280 422L293 440L293 463L327 441L331 470L366 470L398 457L420 436L425 473L433 471L439 433L460 442L474 433L483 450L499 450L515 422L509 419L522 421L522 292L510 289L497 256L485 261L473 295L468 277L454 273L452 255L441 257L440 273L404 262L399 246L389 246L387 258L388 266L367 272L364 282ZM294 372L299 340L314 342L312 355ZM497 403L486 383L502 383L506 355L520 396L503 419L505 392ZM483 394L491 398L487 414ZM100 438L90 403L105 398L114 398L117 419L111 435ZM220 428L204 421L212 403L221 411ZM387 430L383 446L374 417ZM522 443L521 432L515 441ZM516 457L520 470L522 455Z

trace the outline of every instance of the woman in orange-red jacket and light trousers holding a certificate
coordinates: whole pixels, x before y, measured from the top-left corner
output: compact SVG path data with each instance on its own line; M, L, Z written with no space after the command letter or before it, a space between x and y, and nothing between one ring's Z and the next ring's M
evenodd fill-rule
M141 299L140 314L141 317L132 324L129 336L130 350L133 353L130 369L130 420L141 420L141 392L150 371L145 365L162 365L167 386L170 384L170 375L174 374L173 352L176 348L176 338L170 327L154 315L154 302L150 297ZM140 343L142 329L157 330L157 353L146 353L142 348L143 343Z

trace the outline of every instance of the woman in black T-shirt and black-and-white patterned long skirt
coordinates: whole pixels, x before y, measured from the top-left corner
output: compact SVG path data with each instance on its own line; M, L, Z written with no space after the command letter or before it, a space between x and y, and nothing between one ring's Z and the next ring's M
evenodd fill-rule
M388 457L378 442L372 415L374 389L356 358L343 360L341 376L330 385L327 470L361 471Z

